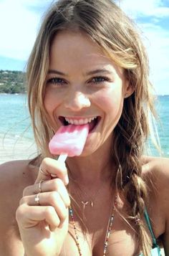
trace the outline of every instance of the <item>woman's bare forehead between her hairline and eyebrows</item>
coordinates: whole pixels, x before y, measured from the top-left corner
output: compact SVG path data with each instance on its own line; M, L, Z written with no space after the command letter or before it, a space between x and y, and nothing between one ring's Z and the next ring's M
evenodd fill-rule
M89 70L95 68L117 69L108 54L83 32L59 32L53 39L49 68L60 70Z

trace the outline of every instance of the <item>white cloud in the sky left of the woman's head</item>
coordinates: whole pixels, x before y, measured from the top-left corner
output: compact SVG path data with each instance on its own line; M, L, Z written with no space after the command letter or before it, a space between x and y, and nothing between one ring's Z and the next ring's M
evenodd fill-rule
M40 6L40 3L42 1L32 1L33 6ZM19 60L26 60L29 56L41 17L29 6L28 0L0 1L1 56Z

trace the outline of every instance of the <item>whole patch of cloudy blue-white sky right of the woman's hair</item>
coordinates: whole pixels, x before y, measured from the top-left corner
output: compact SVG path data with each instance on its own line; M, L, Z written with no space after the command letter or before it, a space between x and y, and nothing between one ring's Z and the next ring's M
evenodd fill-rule
M163 18L169 19L169 7L163 3L162 0L119 1L121 8L143 32L150 59L150 80L156 93L169 94L169 29L160 23Z

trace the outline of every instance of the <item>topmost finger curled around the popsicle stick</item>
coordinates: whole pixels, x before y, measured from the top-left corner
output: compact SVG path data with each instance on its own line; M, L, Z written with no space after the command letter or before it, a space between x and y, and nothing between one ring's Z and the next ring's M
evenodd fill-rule
M44 158L39 168L39 174L35 183L38 183L42 179L49 180L52 176L57 176L59 179L62 179L65 185L69 183L65 163L52 158Z

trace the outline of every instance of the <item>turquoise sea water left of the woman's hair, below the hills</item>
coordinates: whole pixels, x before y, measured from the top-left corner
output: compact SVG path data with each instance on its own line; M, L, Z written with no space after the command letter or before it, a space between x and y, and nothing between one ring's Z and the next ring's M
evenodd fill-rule
M37 155L26 95L0 94L0 163Z

